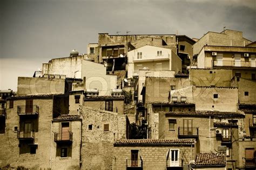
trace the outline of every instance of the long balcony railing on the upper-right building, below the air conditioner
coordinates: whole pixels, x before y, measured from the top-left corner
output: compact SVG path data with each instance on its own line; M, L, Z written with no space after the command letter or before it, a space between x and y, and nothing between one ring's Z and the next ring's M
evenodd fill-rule
M254 62L235 61L235 60L213 60L213 66L230 66L230 67L256 67Z

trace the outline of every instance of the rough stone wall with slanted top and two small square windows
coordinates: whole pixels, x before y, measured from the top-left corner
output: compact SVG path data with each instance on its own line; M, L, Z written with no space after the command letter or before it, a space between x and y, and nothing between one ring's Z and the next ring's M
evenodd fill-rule
M111 169L113 143L126 137L126 117L117 113L80 107L83 117L81 164L82 169ZM109 131L104 131L109 124ZM92 130L88 129L92 125Z

